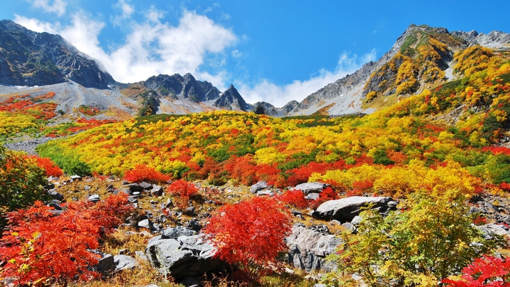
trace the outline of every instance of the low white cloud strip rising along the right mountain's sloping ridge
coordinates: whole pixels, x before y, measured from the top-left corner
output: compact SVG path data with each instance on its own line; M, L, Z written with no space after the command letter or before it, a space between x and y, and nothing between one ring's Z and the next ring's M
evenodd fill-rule
M313 75L306 81L293 81L287 85L279 86L271 83L267 79L254 86L245 83L236 83L242 97L250 104L257 101L267 101L274 106L281 107L289 101L302 101L313 92L317 92L320 88L324 88L329 83L343 78L347 74L356 72L364 63L375 59L375 50L369 54L363 55L361 58L344 53L338 60L338 65L334 72L321 69L317 75Z

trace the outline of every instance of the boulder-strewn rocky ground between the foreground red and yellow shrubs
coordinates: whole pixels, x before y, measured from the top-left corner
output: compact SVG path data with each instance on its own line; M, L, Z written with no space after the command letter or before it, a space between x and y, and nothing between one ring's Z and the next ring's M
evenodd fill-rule
M199 196L190 200L188 208L182 209L174 206L172 196L165 194L166 185L128 183L114 178L74 177L51 181L55 185L51 192L56 206L60 202L77 199L97 201L110 193L129 194L129 202L137 208L137 212L120 229L126 234L122 238L141 236L145 239L135 247L120 243L114 249L108 249L110 253L102 254L101 264L104 266L101 265L101 268L120 272L145 264L146 268L155 268L159 274L172 274L174 280L184 286L199 284L204 272L224 268L221 261L213 258L210 243L199 235L211 213L220 206L218 202L233 203L255 195L272 196L282 192L264 182L251 188L230 183L220 187L197 182ZM327 185L323 183L296 186L307 198L315 197L325 187ZM283 256L288 264L287 272L304 272L309 278L302 279L308 282L305 286L314 286L320 274L335 270L336 266L326 257L340 245L341 240L337 237L340 231L356 228L360 208L368 203L375 204L381 213L396 210L398 204L390 197L347 197L326 202L315 211L293 209L294 225L286 238L288 252ZM510 200L507 197L479 195L471 199L470 205L472 212L478 212L484 218L480 228L487 235L510 235L510 229L504 225L510 223Z

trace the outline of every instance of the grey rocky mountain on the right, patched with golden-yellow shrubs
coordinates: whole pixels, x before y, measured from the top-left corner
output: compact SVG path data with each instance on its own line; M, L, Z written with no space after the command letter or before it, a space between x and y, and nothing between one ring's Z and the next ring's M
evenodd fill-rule
M377 62L366 63L354 74L309 95L289 115L370 113L387 106L385 101L393 103L397 97L456 79L456 52L475 45L508 50L509 44L510 34L499 31L450 33L445 28L411 25Z

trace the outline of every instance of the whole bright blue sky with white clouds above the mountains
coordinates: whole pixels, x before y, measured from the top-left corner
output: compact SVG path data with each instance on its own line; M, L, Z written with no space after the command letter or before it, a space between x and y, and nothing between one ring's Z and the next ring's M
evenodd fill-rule
M283 106L379 59L409 24L510 33L510 1L0 0L0 18L59 33L114 79L186 74Z

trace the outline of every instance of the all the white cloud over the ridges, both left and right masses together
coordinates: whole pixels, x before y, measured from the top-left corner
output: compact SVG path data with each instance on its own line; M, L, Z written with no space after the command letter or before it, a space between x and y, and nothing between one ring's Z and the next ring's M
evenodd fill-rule
M125 2L120 0L118 3ZM160 19L163 15L164 12L151 7L145 13L145 22L129 20L131 33L126 35L123 44L110 48L110 51L101 48L98 40L104 22L89 19L83 13L73 15L72 22L67 26L19 15L15 15L15 22L33 31L62 35L77 49L98 59L106 71L122 83L143 81L158 74L189 72L199 80L213 83L220 90L227 88L231 83L231 74L221 70L225 57L242 56L237 49L227 54L227 47L239 40L247 41L248 36L241 35L239 39L231 30L194 11L183 10L176 26L162 23ZM325 85L352 74L370 60L375 60L375 50L360 57L344 53L340 55L334 71L321 69L304 81L276 85L268 79L261 79L256 83L234 81L234 84L248 103L267 101L281 107L291 100L302 101ZM204 64L220 67L216 69L220 72L211 74L203 69Z

